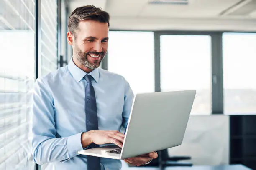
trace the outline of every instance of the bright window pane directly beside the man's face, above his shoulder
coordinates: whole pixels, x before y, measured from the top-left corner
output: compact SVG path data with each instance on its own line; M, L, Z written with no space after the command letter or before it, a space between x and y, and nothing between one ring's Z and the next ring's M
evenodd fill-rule
M125 77L133 92L154 92L154 33L109 32L108 70Z

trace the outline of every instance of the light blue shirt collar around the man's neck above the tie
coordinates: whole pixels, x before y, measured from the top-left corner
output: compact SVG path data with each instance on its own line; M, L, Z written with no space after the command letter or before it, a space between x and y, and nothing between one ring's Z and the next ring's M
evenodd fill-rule
M69 72L74 77L74 79L77 81L77 83L79 83L84 78L84 76L87 75L87 73L84 72L84 70L80 69L79 67L77 67L77 65L74 64L73 57L71 57L71 60L69 61L68 69L69 69ZM98 68L92 70L92 72L90 72L88 74L93 77L95 82L98 82L98 80L99 80L99 69Z

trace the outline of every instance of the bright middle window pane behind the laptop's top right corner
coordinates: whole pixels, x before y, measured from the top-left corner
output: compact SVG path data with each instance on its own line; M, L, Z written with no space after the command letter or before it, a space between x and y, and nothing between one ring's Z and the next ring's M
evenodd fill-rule
M212 111L211 37L160 36L161 91L197 90L191 115Z

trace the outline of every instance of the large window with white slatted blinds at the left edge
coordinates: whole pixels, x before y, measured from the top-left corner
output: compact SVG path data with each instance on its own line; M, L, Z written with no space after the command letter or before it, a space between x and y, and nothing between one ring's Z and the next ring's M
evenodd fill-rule
M35 79L35 2L0 1L0 169L33 170L29 135Z

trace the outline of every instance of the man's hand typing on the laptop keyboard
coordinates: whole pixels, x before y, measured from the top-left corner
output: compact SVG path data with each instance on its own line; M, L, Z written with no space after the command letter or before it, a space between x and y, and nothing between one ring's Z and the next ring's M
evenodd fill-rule
M91 130L82 133L81 143L83 148L86 148L91 143L97 145L113 143L122 148L124 137L125 135L117 130Z

